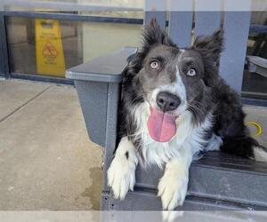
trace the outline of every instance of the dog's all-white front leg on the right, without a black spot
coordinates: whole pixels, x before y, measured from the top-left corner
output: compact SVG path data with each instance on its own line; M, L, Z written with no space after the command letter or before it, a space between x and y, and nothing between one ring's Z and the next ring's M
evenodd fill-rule
M164 210L182 205L187 194L189 168L192 161L190 148L182 148L179 156L166 163L165 173L158 183L158 196Z

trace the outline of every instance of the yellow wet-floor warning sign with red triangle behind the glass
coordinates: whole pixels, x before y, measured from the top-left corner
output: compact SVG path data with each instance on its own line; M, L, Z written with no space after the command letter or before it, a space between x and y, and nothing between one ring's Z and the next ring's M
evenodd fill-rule
M41 75L65 76L65 59L58 20L36 19L36 67Z

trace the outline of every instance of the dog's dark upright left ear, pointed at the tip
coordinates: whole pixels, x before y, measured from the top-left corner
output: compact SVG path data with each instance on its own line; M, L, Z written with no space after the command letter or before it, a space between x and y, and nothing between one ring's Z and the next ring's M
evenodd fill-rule
M149 49L153 44L166 44L176 46L159 27L156 19L150 20L150 23L144 27L143 47Z

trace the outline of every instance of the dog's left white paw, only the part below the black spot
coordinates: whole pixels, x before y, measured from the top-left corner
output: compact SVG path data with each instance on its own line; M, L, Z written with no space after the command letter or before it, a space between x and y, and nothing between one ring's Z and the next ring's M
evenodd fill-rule
M108 185L116 199L125 199L128 190L134 191L136 164L125 155L117 155L108 170Z

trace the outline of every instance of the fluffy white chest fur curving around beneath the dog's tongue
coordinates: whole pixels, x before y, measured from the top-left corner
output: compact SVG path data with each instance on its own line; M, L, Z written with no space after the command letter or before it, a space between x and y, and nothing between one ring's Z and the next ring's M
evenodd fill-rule
M174 156L179 156L182 147L190 149L192 155L203 149L203 145L207 143L203 139L203 135L212 126L211 115L207 115L205 122L196 127L192 123L192 114L186 111L176 120L177 129L174 138L168 142L157 142L150 138L147 127L150 115L148 104L144 102L136 107L133 110L133 115L134 123L137 126L134 137L142 141L144 162L147 164L156 163L158 166L169 162Z

